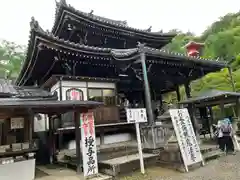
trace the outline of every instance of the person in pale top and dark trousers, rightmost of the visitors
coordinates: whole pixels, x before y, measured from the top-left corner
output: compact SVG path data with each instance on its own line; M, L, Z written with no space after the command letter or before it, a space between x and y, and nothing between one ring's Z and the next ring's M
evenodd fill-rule
M221 150L226 149L226 153L234 152L234 145L232 140L233 129L232 124L228 118L225 118L221 123L220 130L223 134Z

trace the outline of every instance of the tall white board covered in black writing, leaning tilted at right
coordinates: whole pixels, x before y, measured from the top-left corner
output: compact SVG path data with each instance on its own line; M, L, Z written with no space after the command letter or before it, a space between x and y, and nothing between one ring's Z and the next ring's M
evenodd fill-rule
M169 112L185 167L203 161L188 110L170 109Z

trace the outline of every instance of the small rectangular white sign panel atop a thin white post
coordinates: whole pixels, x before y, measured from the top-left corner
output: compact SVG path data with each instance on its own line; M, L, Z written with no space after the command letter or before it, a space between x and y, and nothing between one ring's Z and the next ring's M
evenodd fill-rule
M147 122L147 112L145 108L128 108L126 109L128 123Z

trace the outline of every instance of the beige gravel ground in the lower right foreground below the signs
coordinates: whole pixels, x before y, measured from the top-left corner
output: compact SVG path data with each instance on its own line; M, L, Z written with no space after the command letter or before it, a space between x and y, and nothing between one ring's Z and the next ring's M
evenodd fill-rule
M238 180L240 179L240 153L210 161L204 167L180 173L159 167L150 168L145 176L134 173L121 180Z

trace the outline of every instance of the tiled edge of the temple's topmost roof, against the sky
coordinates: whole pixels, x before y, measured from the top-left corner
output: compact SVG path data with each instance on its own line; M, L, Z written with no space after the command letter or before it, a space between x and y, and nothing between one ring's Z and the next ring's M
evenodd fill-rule
M67 10L69 10L72 13L77 14L78 16L84 16L84 17L89 18L91 20L99 21L101 23L106 23L106 24L109 24L109 25L113 25L115 27L123 28L125 30L138 31L138 32L145 33L145 34L152 34L152 35L159 35L159 36L166 36L166 35L172 36L172 37L176 36L175 33L163 33L162 31L151 32L151 26L150 26L150 28L145 29L145 30L130 27L130 26L127 25L127 21L113 20L113 19L102 17L102 16L94 15L93 11L90 12L90 13L86 13L86 12L80 11L78 9L75 9L70 4L67 4L66 0L60 0L60 2L56 2L55 20L54 20L54 25L53 25L53 28L52 28L52 32L55 31L55 29L56 29L57 19L60 18L59 13L60 13L61 9L63 9L63 8L66 8Z

